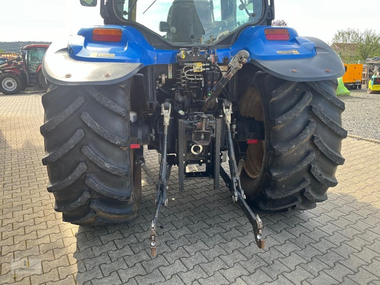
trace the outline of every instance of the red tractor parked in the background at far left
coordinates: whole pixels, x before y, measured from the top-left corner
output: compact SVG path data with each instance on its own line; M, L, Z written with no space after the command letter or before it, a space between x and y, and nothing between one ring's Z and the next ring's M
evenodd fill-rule
M0 92L17 94L29 86L47 89L41 62L49 45L27 45L21 56L0 64Z

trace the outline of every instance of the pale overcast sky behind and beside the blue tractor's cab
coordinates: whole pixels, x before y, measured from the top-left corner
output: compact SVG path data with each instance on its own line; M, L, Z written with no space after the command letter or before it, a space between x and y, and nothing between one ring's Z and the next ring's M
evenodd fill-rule
M0 1L3 4L1 10L9 7L13 12L2 13L0 41L54 41L65 35L75 34L81 27L103 23L99 15L99 5L95 8L83 7L79 0ZM140 1L144 6L153 2ZM317 37L328 42L339 29L364 30L377 27L375 24L378 24L378 16L370 9L376 2L276 0L275 12L276 19L284 19L299 35ZM4 5L6 3L9 5ZM17 8L11 8L16 3ZM163 15L163 20L165 19L166 15Z

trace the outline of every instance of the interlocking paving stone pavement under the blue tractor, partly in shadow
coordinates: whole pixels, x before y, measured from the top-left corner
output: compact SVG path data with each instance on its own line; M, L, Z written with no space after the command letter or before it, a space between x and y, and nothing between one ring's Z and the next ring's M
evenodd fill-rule
M263 216L265 250L226 187L193 181L179 193L174 169L152 258L155 189L144 175L130 223L75 226L54 211L40 102L41 94L0 96L1 284L380 284L380 145L345 139L328 201ZM154 152L147 164L158 173ZM14 274L11 262L22 258L40 260L41 272Z

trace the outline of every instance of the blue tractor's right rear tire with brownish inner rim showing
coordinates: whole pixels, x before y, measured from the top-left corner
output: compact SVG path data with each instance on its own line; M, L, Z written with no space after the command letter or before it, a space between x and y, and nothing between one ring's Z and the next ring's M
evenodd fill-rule
M335 173L344 163L345 105L336 97L337 80L291 82L264 76L240 104L242 115L265 124L265 140L249 145L241 173L247 201L261 213L315 208L327 199L327 189L337 185Z

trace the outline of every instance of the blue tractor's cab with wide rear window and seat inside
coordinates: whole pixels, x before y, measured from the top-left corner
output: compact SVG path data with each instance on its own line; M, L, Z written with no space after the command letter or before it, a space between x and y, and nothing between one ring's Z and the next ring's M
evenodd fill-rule
M101 6L105 24L134 26L171 46L214 45L249 25L271 25L274 14L268 0L101 0Z

